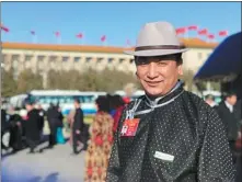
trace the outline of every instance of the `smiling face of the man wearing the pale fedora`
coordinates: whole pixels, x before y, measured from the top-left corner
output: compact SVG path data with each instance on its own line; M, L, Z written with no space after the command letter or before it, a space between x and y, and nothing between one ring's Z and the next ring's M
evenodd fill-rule
M137 77L147 94L159 96L166 94L182 75L182 66L174 57L137 57Z

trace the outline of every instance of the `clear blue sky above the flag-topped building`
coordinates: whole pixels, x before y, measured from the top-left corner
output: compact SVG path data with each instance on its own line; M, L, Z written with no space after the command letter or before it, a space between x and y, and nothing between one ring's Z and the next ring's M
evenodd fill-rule
M2 2L1 22L10 29L2 32L2 42L57 44L55 31L61 33L61 44L125 46L134 45L146 22L169 21L175 27L198 25L217 34L241 31L240 2ZM83 33L82 41L76 35ZM195 32L188 34L196 36ZM221 41L221 38L216 38Z

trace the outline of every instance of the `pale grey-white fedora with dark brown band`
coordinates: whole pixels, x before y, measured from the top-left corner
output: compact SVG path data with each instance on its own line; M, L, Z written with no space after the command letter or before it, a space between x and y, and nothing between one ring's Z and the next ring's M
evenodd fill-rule
M134 56L163 56L186 52L176 36L175 27L168 22L145 24L139 32L135 50L125 50Z

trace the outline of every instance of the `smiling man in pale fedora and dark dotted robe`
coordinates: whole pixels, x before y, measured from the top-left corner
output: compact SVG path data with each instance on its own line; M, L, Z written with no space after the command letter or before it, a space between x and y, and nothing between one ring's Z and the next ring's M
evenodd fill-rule
M218 114L183 89L182 53L168 22L147 23L134 52L146 95L128 104L114 139L107 182L233 182Z

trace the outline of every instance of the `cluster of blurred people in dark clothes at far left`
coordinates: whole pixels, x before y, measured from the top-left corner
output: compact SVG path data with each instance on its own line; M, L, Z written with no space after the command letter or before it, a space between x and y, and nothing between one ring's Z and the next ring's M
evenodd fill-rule
M50 104L49 109L45 111L41 104L33 103L30 100L24 101L24 106L21 110L11 109L9 113L1 109L1 135L3 138L9 135L10 138L9 143L4 139L1 140L2 149L12 149L11 152L15 153L28 147L30 153L43 152L42 148L37 150L36 147L45 140L44 125L46 120L49 127L47 148L53 148L60 138L57 135L58 129L64 127L64 116L59 106ZM64 137L61 139L64 140Z

